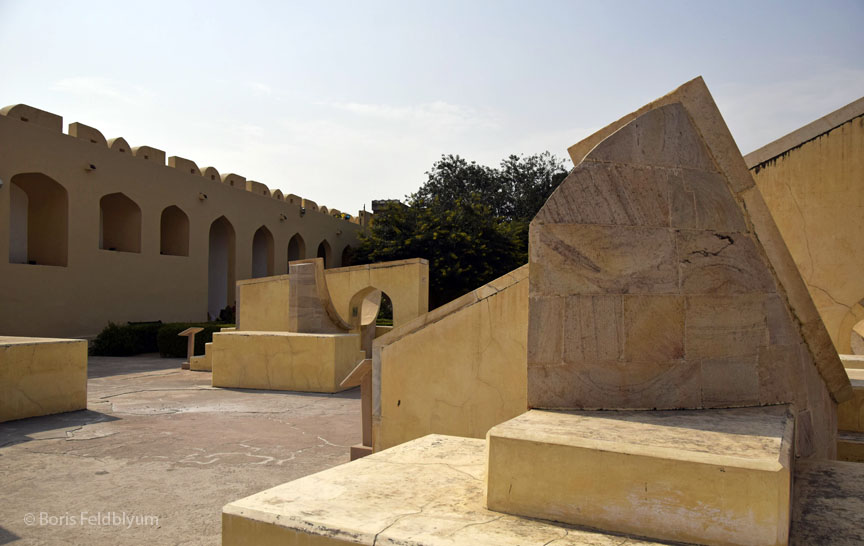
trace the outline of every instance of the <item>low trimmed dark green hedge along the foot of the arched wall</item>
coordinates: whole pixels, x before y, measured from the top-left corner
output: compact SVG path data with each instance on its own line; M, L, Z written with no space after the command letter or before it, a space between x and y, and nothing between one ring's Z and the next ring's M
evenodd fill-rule
M213 340L213 332L229 328L233 324L221 322L158 322L132 323L126 325L109 322L96 339L90 352L96 356L131 356L158 352L162 357L186 356L186 338L177 334L200 326L203 331L195 336L195 354L204 354L204 344Z

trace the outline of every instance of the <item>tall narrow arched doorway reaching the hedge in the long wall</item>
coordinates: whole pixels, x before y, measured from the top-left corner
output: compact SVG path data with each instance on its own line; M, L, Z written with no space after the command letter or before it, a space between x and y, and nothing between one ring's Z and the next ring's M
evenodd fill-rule
M220 216L210 224L207 255L207 315L211 319L234 304L235 250L234 226Z

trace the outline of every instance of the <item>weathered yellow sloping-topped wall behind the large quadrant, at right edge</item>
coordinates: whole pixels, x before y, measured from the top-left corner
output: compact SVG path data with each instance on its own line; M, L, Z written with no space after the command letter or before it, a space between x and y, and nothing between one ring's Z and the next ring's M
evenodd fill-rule
M745 157L841 354L864 320L864 99Z

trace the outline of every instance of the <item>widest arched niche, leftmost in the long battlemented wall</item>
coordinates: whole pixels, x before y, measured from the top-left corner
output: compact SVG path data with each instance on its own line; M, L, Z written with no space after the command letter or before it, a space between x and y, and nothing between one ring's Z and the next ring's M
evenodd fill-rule
M66 266L66 188L42 173L16 174L10 182L9 262Z

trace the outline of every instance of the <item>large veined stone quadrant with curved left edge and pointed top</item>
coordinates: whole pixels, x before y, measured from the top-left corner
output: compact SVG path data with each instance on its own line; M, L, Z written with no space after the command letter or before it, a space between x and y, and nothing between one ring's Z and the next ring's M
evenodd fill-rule
M797 453L830 456L849 384L812 301L795 299L803 282L704 83L658 103L531 223L529 406L789 403Z

